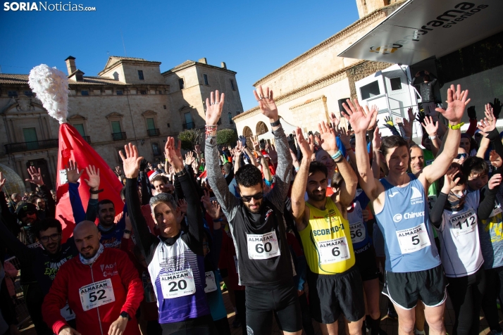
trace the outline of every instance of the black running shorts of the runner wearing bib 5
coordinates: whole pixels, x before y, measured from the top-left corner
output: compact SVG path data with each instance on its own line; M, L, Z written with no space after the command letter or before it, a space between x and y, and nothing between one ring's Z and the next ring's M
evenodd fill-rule
M447 298L447 278L442 265L415 272L385 271L383 294L404 310L416 307L418 300L435 307Z

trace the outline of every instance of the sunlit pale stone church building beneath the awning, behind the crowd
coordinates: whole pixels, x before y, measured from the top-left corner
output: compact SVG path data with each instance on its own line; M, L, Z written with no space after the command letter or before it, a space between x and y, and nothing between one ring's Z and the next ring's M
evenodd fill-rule
M328 121L330 113L340 116L339 99L356 97L354 82L391 65L337 57L402 4L391 1L390 5L387 0L367 0L366 3L357 0L359 8L360 2L373 11L255 82L255 87L262 85L273 89L278 112L290 124L304 131L317 130L318 122ZM371 2L375 4L371 6ZM238 134L242 135L249 135L250 131L254 135L260 134L257 132L259 122L268 124L258 107L237 115L234 120Z

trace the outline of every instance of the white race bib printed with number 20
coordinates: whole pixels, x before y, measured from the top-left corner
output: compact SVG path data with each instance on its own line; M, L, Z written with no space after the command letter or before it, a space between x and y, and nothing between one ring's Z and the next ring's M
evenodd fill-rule
M196 293L196 283L192 269L161 274L161 289L165 299L190 296Z

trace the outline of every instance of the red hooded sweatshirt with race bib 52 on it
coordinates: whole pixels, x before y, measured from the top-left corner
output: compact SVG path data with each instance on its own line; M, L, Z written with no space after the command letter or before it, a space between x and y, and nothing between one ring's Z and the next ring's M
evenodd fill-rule
M92 265L82 264L80 257L61 265L42 307L44 321L55 334L68 325L60 313L67 300L82 335L108 334L120 312L131 317L123 334L140 334L135 314L143 300L143 286L124 251L104 248Z

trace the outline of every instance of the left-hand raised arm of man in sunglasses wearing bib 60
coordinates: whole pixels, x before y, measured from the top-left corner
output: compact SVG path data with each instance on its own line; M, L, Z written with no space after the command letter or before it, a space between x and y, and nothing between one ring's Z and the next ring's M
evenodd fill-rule
M211 99L206 99L206 171L208 181L213 189L218 203L222 206L223 213L231 221L235 213L235 208L239 205L239 201L232 195L225 182L220 168L220 158L218 158L218 148L216 144L216 129L218 119L221 117L225 94L220 96L211 92Z

